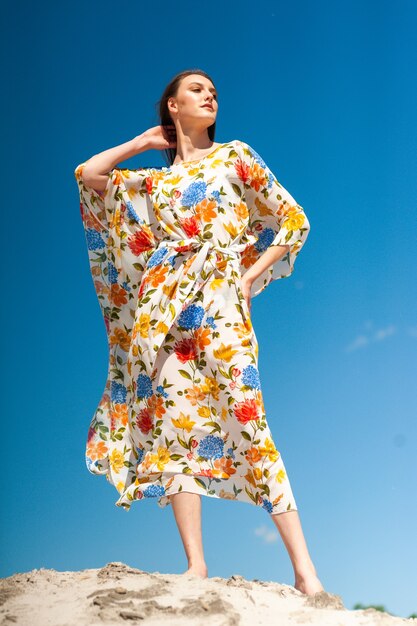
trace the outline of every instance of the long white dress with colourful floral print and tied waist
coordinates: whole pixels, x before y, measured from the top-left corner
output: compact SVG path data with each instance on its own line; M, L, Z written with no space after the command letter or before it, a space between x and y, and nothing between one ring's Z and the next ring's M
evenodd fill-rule
M109 345L86 464L116 506L193 492L297 510L265 415L258 341L242 293L270 246L290 246L252 284L288 277L310 225L247 143L199 161L114 168L105 192L75 169L88 259Z

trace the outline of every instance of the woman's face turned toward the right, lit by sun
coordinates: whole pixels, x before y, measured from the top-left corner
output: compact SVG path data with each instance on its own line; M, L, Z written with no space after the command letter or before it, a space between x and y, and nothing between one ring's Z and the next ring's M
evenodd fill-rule
M168 107L174 121L201 122L207 128L216 121L217 91L205 76L189 74L182 79L176 98L168 99Z

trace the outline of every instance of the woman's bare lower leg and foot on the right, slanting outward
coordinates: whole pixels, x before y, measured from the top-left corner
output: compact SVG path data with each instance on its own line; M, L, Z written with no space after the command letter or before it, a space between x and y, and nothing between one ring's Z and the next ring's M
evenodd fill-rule
M276 513L271 517L278 528L294 568L294 587L307 595L323 591L308 552L298 511L294 509Z

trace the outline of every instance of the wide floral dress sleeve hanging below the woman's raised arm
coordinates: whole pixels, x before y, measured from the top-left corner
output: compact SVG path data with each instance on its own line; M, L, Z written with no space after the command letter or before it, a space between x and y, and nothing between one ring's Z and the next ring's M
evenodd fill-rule
M141 277L156 238L147 193L151 170L114 168L103 192L88 187L74 170L90 271L108 339L115 324L130 334Z

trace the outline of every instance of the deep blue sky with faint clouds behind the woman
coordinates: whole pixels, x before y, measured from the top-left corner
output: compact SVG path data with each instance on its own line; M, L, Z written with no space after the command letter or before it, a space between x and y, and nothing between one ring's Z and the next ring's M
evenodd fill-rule
M0 44L3 185L16 191L4 213L0 575L186 569L172 508L119 509L84 464L107 343L73 170L157 124L168 81L200 67L219 92L215 140L254 147L311 225L293 275L252 302L267 418L310 554L347 608L417 611L415 3L24 8L5 9ZM263 509L202 504L210 576L293 584Z

